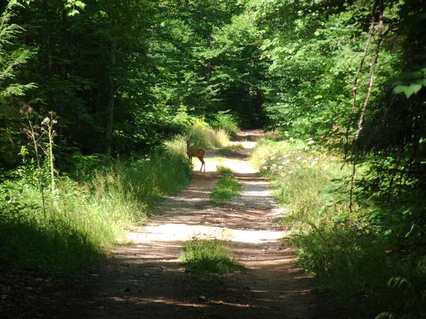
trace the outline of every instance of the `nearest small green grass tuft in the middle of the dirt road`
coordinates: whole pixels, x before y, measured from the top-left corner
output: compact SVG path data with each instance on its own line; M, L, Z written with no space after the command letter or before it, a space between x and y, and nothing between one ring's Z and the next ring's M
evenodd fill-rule
M228 244L221 240L190 240L183 248L182 262L187 272L214 276L244 269L233 257Z

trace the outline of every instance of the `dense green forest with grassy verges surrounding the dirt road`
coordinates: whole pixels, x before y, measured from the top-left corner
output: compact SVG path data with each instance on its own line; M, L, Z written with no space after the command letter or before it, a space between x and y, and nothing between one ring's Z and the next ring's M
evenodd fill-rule
M301 267L426 317L426 1L0 0L0 274L103 262L239 129Z

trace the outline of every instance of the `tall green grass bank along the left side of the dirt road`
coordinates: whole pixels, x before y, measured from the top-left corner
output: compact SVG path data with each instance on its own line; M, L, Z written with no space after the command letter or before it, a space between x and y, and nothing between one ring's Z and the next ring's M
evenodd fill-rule
M0 184L0 269L49 272L99 261L124 230L146 220L158 198L190 180L186 154L166 147L87 172L80 183L58 177L55 192L45 189L44 216L34 170L16 174Z

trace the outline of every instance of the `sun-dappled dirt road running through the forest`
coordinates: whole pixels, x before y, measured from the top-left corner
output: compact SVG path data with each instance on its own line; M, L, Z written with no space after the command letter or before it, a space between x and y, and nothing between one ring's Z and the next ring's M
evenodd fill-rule
M274 222L280 208L265 179L249 165L260 131L239 135L244 149L207 152L207 172L185 191L165 198L148 225L130 232L101 266L65 279L4 274L0 313L6 318L339 318L312 291L295 252ZM197 159L195 159L197 160ZM209 201L221 176L234 171L244 189L222 206ZM244 271L203 279L185 273L182 246L192 237L230 242Z

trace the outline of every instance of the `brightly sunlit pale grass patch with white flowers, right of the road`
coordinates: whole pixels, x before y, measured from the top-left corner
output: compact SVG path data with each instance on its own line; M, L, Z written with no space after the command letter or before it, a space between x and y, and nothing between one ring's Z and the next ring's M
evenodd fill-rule
M332 184L332 180L345 174L336 159L322 155L301 141L261 140L251 155L251 162L270 177L275 198L288 208L283 221L291 221L293 227L296 224L304 227L306 221L311 221L312 212L327 203L327 196L322 195L324 188L340 186L338 182ZM312 222L316 220L312 218Z

